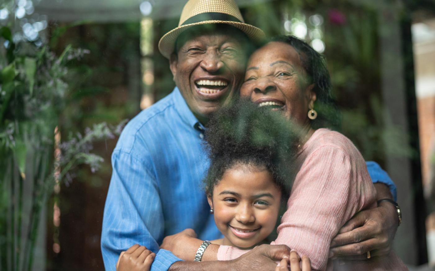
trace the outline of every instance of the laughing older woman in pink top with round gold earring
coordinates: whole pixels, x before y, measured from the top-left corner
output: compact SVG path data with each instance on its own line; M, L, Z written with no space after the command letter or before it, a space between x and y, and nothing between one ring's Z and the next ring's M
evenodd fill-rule
M341 265L328 259L331 240L345 222L377 206L361 154L345 136L321 128L334 125L336 119L330 90L324 60L295 37L278 36L249 59L241 96L281 111L303 131L298 174L272 244L308 255L315 270L407 270L394 253L375 258L367 254L365 261ZM204 259L230 260L245 252L220 246L215 257Z

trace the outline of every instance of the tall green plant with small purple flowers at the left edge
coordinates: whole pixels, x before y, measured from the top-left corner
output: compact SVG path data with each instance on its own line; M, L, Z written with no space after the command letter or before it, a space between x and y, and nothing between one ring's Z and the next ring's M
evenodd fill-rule
M57 57L47 46L14 43L9 27L0 35L7 44L0 50L0 269L31 270L42 211L55 183L80 164L96 170L102 158L90 152L92 143L114 138L123 123L71 134L55 157L54 131L69 91L67 63L87 52L67 46Z

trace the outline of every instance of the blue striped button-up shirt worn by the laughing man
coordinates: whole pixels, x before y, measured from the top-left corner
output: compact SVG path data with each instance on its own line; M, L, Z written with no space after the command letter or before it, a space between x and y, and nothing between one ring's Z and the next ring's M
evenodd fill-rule
M106 270L115 270L120 252L137 243L156 253L151 271L166 271L180 259L159 245L165 236L186 228L202 240L222 238L202 189L209 165L203 129L177 88L124 128L112 154L104 207L101 250ZM392 184L377 164L369 172Z

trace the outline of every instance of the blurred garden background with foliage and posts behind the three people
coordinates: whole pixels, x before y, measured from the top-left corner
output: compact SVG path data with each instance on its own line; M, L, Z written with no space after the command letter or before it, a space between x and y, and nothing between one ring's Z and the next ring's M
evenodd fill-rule
M403 213L394 248L435 266L435 2L236 0L268 36L326 56L341 132ZM160 37L186 0L2 0L0 270L103 270L110 155L125 119L174 87Z

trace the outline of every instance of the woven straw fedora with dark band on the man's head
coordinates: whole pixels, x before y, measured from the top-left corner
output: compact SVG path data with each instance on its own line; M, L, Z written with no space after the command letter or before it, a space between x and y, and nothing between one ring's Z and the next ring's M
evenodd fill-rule
M253 42L264 39L261 29L244 23L234 0L189 0L181 12L178 27L164 34L159 41L160 53L169 59L174 52L177 37L192 26L224 23L243 31Z

